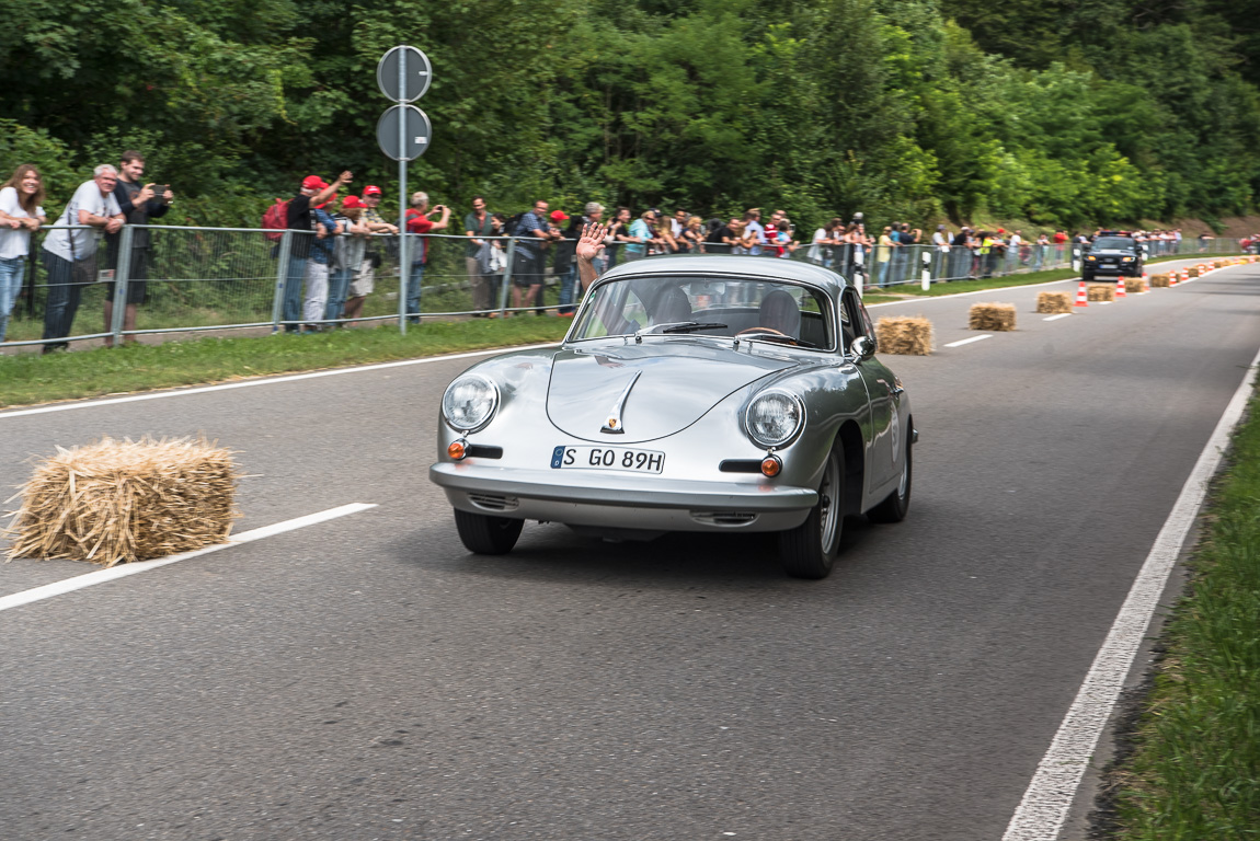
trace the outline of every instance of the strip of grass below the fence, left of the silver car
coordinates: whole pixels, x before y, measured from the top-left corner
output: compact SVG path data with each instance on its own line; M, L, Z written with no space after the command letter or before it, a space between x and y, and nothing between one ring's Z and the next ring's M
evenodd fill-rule
M392 325L307 336L200 339L50 356L0 356L0 407L558 341L571 324L568 319L520 316L426 322L411 327L406 336Z

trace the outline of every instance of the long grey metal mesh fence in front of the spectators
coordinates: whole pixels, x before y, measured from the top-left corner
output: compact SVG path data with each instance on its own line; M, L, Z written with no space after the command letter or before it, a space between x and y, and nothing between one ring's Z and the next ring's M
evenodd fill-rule
M336 237L249 228L125 225L94 253L59 261L42 249L55 227L33 235L6 346L69 341L115 344L146 334L252 330L302 332L357 322L572 313L581 290L575 242L541 249L532 240L489 238L493 258L461 235ZM96 230L74 225L68 229ZM702 246L707 253L724 247ZM1150 243L1149 257L1237 253L1234 239ZM130 259L120 259L129 254ZM630 258L610 248L598 268ZM646 257L651 259L649 254ZM770 257L762 256L760 259ZM1002 252L932 246L898 248L809 244L786 253L835 269L858 288L896 288L1047 268L1080 267L1076 243L1026 243ZM759 259L750 257L750 259ZM112 276L111 276L112 273Z

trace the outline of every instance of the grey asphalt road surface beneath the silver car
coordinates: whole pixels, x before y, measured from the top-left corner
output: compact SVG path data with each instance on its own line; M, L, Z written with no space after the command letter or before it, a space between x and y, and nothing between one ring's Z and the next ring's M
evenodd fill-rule
M379 504L0 612L0 836L999 838L1260 345L1260 266L1050 322L1038 291L873 310L1019 330L886 359L911 515L824 582L770 538L532 524L470 556L426 480L469 360L0 413L6 487L54 444L204 432L252 475L238 530Z

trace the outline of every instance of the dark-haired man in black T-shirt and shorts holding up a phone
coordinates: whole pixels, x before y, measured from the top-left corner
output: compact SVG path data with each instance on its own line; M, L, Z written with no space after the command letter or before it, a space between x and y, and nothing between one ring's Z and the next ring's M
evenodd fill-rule
M113 188L113 198L122 208L122 215L127 218L127 224L147 225L150 219L160 219L170 210L170 200L174 194L169 185L142 183L145 175L145 156L135 150L122 152L121 166L118 167L118 184ZM122 256L118 253L122 234L110 234L106 242L110 247L110 263L118 266ZM122 329L136 329L136 305L144 303L147 297L149 264L151 262L152 234L147 228L136 228L131 232L131 259L127 261L127 303L122 313ZM105 331L113 327L113 282L105 292ZM135 341L135 336L125 336L123 341ZM105 337L106 347L113 346L113 336Z

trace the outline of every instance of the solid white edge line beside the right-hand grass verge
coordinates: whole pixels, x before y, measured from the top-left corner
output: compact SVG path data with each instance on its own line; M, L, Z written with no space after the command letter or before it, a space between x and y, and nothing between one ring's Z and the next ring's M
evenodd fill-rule
M1203 446L1194 468L1182 486L1173 510L1155 536L1129 595L1120 607L1085 682L1055 734L1050 750L1042 757L1019 808L1007 826L1002 841L1055 841L1063 828L1067 812L1076 797L1085 769L1090 763L1099 737L1111 718L1111 710L1124 689L1133 660L1147 636L1150 617L1159 607L1168 575L1177 565L1177 556L1186 543L1208 482L1230 443L1234 427L1242 417L1251 398L1260 353L1251 360L1242 383L1225 407L1225 413Z

